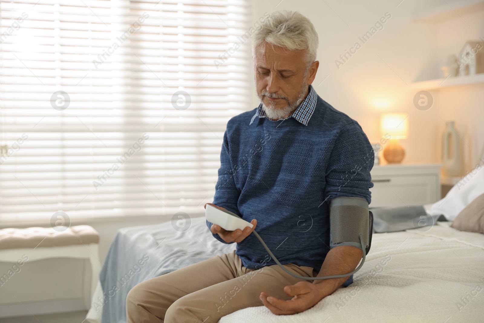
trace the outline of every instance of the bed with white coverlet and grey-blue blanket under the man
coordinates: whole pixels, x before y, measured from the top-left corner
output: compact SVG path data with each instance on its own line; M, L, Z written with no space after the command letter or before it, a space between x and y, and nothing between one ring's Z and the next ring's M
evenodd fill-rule
M353 284L305 312L275 316L265 307L245 308L219 322L483 322L484 234L458 231L450 223L374 233ZM124 301L137 283L234 248L213 239L204 217L192 218L185 232L170 222L121 229L87 321L125 323ZM142 258L143 266L136 265Z

